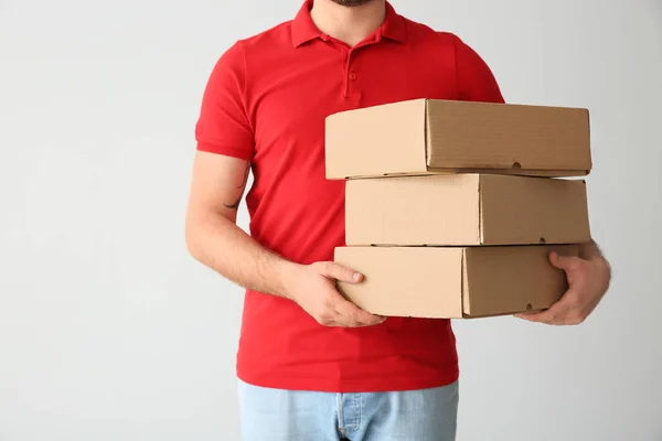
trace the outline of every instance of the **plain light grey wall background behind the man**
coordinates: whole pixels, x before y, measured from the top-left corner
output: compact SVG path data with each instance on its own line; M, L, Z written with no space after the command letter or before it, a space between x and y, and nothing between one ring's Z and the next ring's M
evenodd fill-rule
M662 440L662 3L394 4L510 103L592 116L611 293L579 327L456 322L459 440ZM0 0L1 441L238 440L242 290L183 241L193 127L220 54L299 6Z

